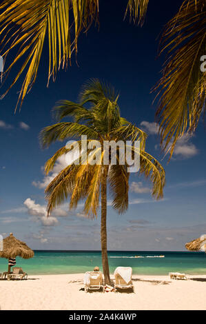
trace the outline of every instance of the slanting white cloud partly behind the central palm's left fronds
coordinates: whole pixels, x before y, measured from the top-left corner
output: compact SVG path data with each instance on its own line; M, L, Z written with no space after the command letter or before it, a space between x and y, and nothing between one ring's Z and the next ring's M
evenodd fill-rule
M33 181L32 185L34 185L34 187L37 187L39 189L45 189L50 184L50 182L55 178L55 176L57 176L57 174L59 174L59 172L61 172L67 166L68 163L66 162L65 154L63 154L59 157L59 159L56 160L51 175L44 176L42 181Z

